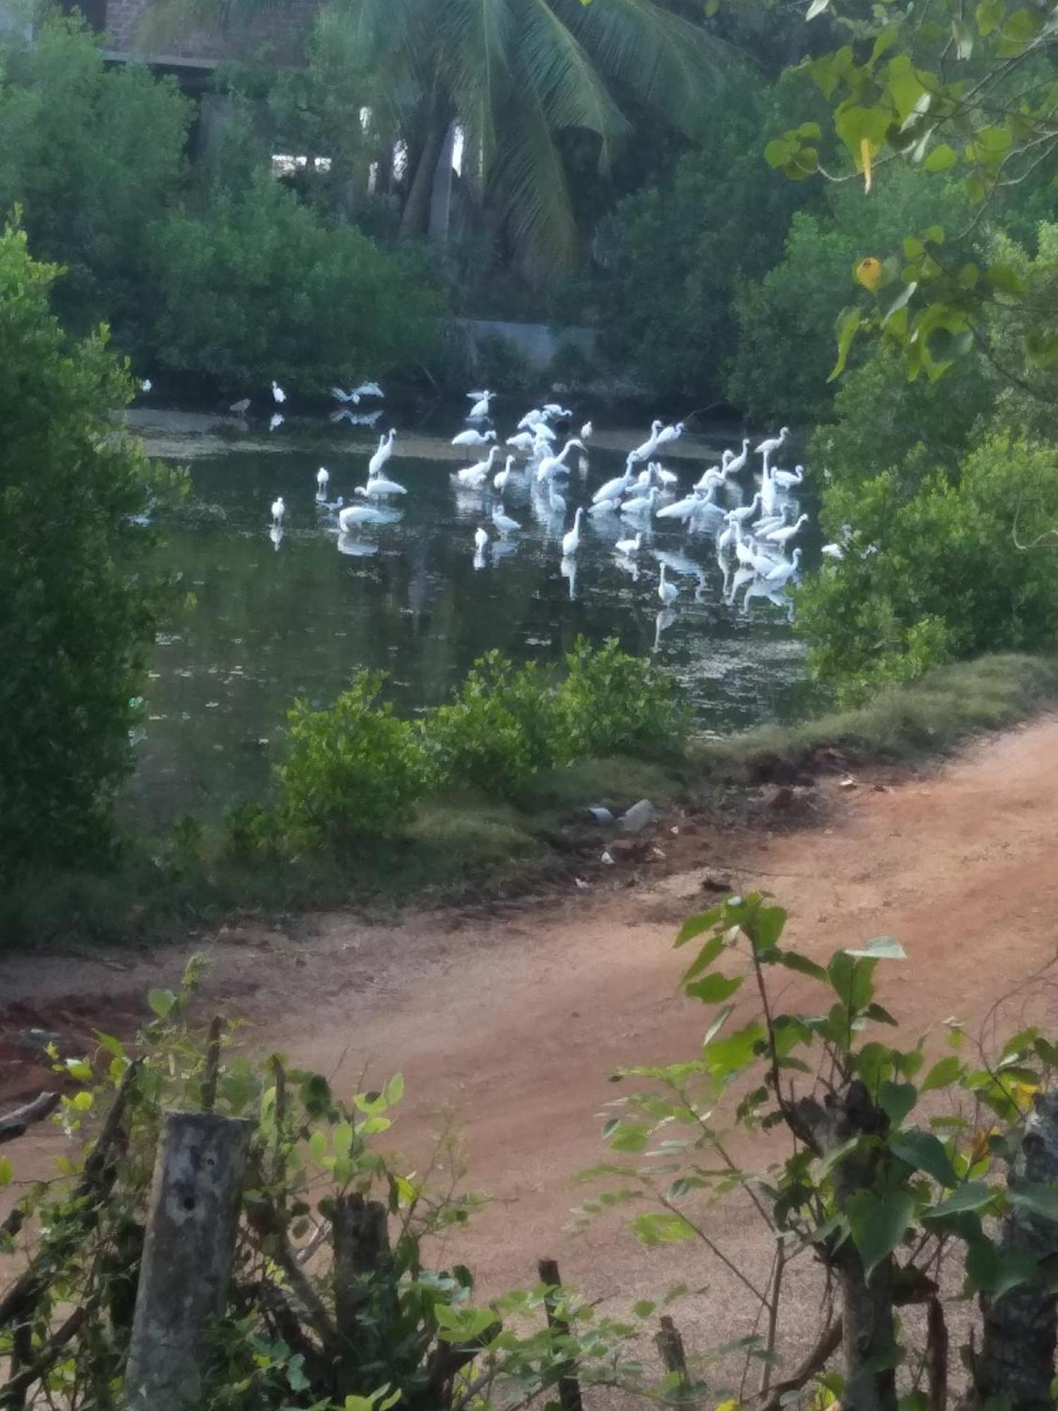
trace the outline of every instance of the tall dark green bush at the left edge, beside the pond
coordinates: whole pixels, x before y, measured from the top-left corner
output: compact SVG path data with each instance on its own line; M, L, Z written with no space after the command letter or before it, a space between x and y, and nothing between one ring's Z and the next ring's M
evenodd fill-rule
M0 237L0 872L113 837L161 584L142 522L181 477L147 460L103 333L49 313L56 271Z

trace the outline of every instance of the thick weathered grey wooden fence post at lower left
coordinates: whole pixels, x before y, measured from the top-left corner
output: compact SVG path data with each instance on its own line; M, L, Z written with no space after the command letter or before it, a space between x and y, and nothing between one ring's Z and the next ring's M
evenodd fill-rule
M200 1404L209 1325L227 1302L251 1123L166 1112L126 1370L130 1411Z

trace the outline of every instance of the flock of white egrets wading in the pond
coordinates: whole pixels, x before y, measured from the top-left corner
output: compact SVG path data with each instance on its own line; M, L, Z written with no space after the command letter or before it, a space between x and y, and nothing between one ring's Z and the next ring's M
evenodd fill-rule
M361 398L384 395L377 382L364 382L348 392L337 387L332 391L343 412ZM276 405L285 401L278 384L272 385L272 395ZM525 511L519 511L519 519L508 508L508 497L516 494L543 528L545 538L560 546L560 571L571 598L577 595L578 553L588 536L609 542L614 562L635 581L640 577L643 550L649 550L657 564L660 635L673 621L674 604L683 593L671 576L694 576L694 597L698 601L705 586L705 570L698 559L688 553L650 549L655 522L673 521L684 526L688 542L711 540L724 576L726 604L735 605L742 593L742 611L749 610L753 598L763 598L791 614L786 588L798 574L801 549L794 546L794 540L808 523L808 515L797 512L796 499L796 491L804 481L804 467L782 470L773 463L790 437L789 428L783 426L777 436L760 442L752 452L752 463L750 442L745 439L739 452L725 450L718 464L705 467L693 484L681 485L680 473L662 464L659 457L666 446L680 439L684 426L681 422L664 425L655 420L650 435L628 453L624 473L605 481L588 498L580 487L588 473L592 423L585 422L578 435L570 435L573 412L557 402L547 402L526 412L501 444L499 433L491 425L495 395L487 388L468 392L473 404L466 418L468 425L451 439L453 446L485 453L482 459L451 473L463 514L481 516L473 539L475 569L485 569L490 559L497 563L515 552L525 518ZM381 411L368 415L374 423ZM326 467L316 471L316 502L333 512L339 547L344 552L355 552L348 539L360 526L392 523L401 518L394 501L408 491L388 474L395 442L395 430L379 437L368 461L367 480L357 485L353 504L341 498L329 504L329 471ZM578 453L576 466L570 460L574 450ZM498 464L501 457L502 466ZM750 485L749 498L742 492L743 484ZM570 502L574 494L580 504ZM276 547L285 512L279 495L272 504L271 529ZM842 553L838 545L827 545L822 552L829 557L841 557Z

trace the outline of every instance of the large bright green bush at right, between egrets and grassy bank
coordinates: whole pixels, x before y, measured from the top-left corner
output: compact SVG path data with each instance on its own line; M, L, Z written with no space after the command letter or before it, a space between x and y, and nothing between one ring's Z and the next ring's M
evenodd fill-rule
M837 505L835 501L837 499ZM824 494L831 529L855 525L845 557L798 590L798 629L820 679L845 701L989 650L1058 636L1058 449L993 433L910 497L892 468Z

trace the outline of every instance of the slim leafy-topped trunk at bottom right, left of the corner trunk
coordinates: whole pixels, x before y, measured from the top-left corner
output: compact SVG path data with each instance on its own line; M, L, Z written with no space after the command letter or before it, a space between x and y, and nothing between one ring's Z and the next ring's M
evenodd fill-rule
M889 1125L859 1081L851 1082L827 1106L811 1098L801 1101L797 1118L820 1151L832 1150L861 1133L882 1134ZM873 1189L875 1165L876 1158L870 1154L853 1154L838 1163L834 1177L839 1208L856 1191ZM841 1285L842 1411L897 1411L892 1256L875 1267L870 1278L851 1239L831 1250L828 1260Z

